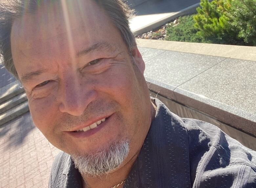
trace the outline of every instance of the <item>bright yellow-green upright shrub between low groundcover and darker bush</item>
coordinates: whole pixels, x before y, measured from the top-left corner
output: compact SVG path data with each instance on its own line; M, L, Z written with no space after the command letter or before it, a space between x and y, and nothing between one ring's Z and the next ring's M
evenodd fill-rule
M239 44L238 29L232 25L233 18L228 14L232 0L201 0L201 8L194 16L198 35L217 44Z

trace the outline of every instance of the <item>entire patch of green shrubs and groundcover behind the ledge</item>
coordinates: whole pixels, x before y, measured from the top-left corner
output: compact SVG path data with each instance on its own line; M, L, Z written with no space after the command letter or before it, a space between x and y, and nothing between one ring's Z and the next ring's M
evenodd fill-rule
M256 0L201 0L198 14L166 28L165 40L256 46Z

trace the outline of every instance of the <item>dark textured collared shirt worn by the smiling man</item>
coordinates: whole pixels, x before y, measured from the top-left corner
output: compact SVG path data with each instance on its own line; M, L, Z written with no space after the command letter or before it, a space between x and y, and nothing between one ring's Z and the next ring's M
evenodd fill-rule
M256 152L216 126L180 118L158 99L155 119L124 188L256 188ZM71 157L61 152L49 187L82 188Z

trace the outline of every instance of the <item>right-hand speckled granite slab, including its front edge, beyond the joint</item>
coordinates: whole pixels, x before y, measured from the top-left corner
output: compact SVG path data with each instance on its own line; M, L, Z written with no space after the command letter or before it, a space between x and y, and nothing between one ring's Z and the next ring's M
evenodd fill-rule
M225 59L176 88L176 99L255 137L255 71L255 61Z

